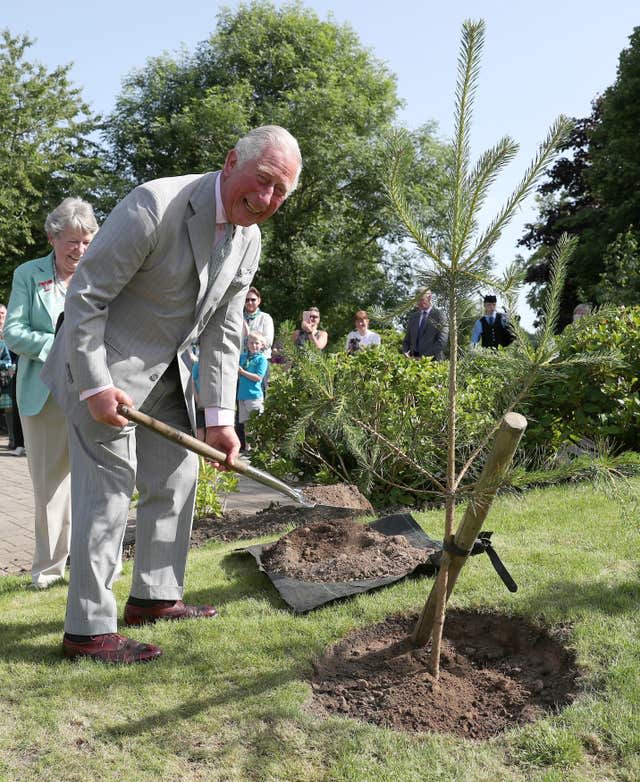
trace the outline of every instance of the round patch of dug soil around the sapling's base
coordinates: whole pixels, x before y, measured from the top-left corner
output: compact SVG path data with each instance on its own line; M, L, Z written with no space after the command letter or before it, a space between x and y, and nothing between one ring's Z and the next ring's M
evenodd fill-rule
M417 618L390 617L332 647L314 666L312 711L489 739L557 712L578 693L566 628L550 632L518 617L450 610L436 683L429 646L410 640Z

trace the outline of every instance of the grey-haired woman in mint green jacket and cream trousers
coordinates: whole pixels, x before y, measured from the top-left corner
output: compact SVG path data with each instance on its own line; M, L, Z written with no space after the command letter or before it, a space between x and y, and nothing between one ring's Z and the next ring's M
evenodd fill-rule
M47 215L53 251L18 266L13 275L5 339L20 356L17 400L35 503L32 585L64 577L71 536L67 427L60 406L40 379L58 317L80 260L98 230L91 205L65 198Z

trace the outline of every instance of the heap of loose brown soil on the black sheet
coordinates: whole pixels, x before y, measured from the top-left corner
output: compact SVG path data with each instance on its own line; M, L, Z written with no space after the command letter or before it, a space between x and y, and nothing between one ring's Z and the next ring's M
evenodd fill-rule
M347 517L297 527L264 549L262 564L300 581L347 582L410 573L434 550Z

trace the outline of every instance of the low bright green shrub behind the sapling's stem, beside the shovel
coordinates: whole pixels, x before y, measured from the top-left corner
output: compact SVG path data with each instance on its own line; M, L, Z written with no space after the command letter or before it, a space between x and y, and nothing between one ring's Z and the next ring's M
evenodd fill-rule
M495 361L482 353L459 383L460 458L491 425L501 393L495 372L484 371ZM398 452L444 481L447 373L446 361L385 345L353 356L307 351L273 373L264 413L250 422L252 461L281 476L357 483L379 505L430 499L434 482Z

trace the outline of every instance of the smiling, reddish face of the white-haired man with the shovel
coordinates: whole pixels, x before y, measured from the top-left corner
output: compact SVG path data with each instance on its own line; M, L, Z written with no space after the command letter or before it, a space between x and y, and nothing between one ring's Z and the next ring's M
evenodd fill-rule
M220 181L227 220L245 228L264 223L285 202L297 172L296 158L280 147L267 145L257 158L244 163L238 163L232 149Z

